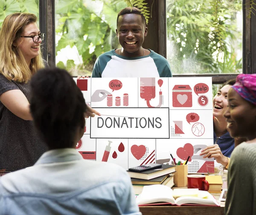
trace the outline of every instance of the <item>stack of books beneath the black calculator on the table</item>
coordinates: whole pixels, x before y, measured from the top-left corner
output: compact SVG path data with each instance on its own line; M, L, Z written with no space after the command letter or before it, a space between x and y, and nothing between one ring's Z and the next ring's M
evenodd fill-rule
M131 177L135 195L139 195L144 186L153 184L162 184L167 187L174 185L173 176L175 172L174 165L162 164L160 169L147 170L141 173L127 171Z

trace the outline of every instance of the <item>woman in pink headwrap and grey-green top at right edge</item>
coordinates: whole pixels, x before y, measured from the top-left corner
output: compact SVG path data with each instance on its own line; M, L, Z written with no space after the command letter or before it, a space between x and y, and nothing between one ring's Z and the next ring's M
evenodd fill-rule
M239 144L230 158L226 215L256 214L256 74L237 76L224 113L227 129Z

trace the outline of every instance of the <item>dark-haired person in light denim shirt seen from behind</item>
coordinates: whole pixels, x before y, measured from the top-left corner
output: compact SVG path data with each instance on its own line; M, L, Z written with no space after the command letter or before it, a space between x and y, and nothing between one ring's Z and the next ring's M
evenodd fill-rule
M67 71L42 69L30 84L35 129L49 151L0 178L0 215L141 215L122 167L76 151L84 117L94 112Z

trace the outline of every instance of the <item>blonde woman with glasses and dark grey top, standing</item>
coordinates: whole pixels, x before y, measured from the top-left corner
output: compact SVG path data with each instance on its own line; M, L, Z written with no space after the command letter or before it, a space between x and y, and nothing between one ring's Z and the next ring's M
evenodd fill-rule
M34 132L28 101L31 76L47 65L36 21L34 14L14 13L0 30L0 170L32 166L47 150Z

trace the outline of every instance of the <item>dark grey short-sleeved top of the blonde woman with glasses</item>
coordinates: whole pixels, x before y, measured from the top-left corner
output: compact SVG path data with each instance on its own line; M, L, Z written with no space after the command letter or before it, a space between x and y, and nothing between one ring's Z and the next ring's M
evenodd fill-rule
M0 95L20 89L29 99L29 84L12 82L0 74ZM32 166L47 150L33 127L33 122L23 120L0 102L0 170L20 170Z

